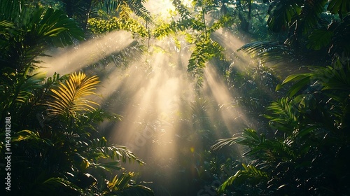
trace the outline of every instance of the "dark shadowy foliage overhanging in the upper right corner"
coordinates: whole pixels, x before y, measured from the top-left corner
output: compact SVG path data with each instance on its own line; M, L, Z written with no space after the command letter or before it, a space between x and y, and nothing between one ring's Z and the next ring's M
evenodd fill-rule
M297 60L309 64L328 64L333 59L346 59L349 57L349 48L344 43L349 41L350 35L347 17L349 2L346 2L272 1L269 5L267 25L269 29L282 35L280 41L283 44L259 41L244 45L241 50L256 55L263 62ZM332 14L338 13L340 20L337 21L335 15L329 15L327 9ZM339 33L340 31L342 33ZM304 41L307 45L302 44ZM325 55L326 52L328 55ZM324 58L320 60L320 56Z

